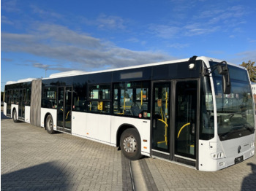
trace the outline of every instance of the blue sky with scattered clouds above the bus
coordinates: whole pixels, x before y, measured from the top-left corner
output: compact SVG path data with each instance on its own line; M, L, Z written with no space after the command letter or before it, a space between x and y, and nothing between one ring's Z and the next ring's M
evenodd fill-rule
M1 0L7 81L205 55L256 61L256 1Z

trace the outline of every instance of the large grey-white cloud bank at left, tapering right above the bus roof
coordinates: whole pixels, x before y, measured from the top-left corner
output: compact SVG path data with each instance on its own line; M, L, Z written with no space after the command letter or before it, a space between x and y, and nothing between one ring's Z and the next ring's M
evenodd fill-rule
M2 33L2 51L26 52L53 58L73 63L70 66L72 69L87 71L105 66L116 68L173 59L163 52L142 52L116 47L64 26L41 24L34 28L30 34ZM52 66L39 63L34 64L34 67L53 69Z

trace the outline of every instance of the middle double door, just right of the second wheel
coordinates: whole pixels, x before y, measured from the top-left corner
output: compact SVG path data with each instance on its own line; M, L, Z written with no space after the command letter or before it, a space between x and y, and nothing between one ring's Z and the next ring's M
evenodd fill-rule
M71 133L72 87L58 87L57 130Z

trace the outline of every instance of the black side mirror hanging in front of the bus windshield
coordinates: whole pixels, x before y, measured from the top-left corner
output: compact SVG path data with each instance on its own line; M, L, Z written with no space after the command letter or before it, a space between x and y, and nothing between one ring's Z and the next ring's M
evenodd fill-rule
M222 90L224 94L231 93L230 72L227 66L217 66L218 73L222 75Z

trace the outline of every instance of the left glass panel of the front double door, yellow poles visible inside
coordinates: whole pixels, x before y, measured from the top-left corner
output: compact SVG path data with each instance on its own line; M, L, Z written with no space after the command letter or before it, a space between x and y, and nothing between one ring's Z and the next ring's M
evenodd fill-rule
M154 84L152 149L170 152L170 82Z

